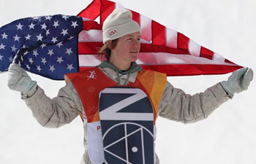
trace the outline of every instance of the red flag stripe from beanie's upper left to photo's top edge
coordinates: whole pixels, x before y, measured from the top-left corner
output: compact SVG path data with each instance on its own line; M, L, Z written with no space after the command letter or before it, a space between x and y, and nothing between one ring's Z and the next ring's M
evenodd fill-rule
M103 25L105 19L110 15L111 12L116 8L116 3L113 1L102 0L102 8L100 14L100 24Z

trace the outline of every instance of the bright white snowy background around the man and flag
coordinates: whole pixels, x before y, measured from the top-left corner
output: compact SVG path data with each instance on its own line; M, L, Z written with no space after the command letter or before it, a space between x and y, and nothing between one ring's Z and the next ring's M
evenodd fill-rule
M118 0L173 28L225 58L256 71L254 0ZM0 0L0 26L23 17L77 15L89 0ZM45 93L53 98L64 82L34 74ZM169 77L186 93L203 92L230 74ZM83 154L83 125L78 117L59 129L42 128L7 87L7 73L0 74L0 163L75 164ZM249 90L217 109L208 119L183 125L158 118L157 154L162 164L255 164L256 80Z

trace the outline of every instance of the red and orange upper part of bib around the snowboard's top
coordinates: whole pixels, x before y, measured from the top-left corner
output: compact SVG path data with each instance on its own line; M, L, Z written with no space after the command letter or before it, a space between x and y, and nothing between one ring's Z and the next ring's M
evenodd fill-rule
M106 87L115 87L117 83L107 77L99 68L88 69L78 73L67 74L78 92L87 122L99 121L99 93ZM143 90L151 101L154 109L154 122L157 117L159 102L166 85L166 74L145 70L138 72L134 83L129 82L125 87L136 87Z

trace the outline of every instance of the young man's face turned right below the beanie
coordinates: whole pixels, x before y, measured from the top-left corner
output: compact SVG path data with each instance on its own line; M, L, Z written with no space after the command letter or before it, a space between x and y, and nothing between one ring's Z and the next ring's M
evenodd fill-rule
M127 70L132 61L138 59L140 52L140 32L118 38L116 47L111 49L110 63L118 69ZM127 68L128 67L128 68Z

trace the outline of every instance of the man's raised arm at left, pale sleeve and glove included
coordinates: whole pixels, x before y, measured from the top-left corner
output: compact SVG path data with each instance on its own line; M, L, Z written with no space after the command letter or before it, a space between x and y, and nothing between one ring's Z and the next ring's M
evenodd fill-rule
M17 64L9 68L8 86L21 92L21 99L29 106L40 125L59 128L72 122L83 111L80 98L72 82L59 90L56 98L49 98L44 90L31 80L29 75Z

